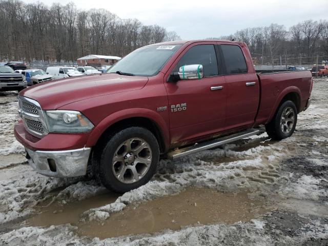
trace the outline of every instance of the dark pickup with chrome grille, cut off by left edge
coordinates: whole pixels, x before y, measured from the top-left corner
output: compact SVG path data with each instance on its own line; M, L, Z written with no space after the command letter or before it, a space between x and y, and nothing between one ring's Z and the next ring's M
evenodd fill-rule
M15 73L9 66L0 66L0 91L21 91L27 87L23 74Z

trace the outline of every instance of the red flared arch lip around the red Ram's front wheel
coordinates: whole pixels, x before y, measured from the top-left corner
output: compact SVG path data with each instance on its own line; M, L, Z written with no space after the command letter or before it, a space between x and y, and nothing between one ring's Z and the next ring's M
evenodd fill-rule
M101 120L91 132L86 147L92 147L96 145L99 137L116 122L133 117L143 117L152 120L161 132L165 144L165 149L168 148L170 143L170 134L165 120L159 113L144 108L120 110Z

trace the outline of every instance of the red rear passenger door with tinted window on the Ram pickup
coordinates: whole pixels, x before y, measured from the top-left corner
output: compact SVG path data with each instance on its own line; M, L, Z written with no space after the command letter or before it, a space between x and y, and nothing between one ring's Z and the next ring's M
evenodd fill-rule
M254 124L259 105L260 87L247 47L220 44L227 88L226 130L249 128ZM247 60L248 59L248 60Z

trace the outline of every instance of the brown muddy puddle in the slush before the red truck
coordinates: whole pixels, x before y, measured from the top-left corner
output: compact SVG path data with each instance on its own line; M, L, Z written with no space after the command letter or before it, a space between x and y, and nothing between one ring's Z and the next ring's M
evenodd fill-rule
M264 213L263 202L251 200L247 192L222 193L207 188L187 188L176 195L156 198L111 214L105 221L80 221L79 215L90 208L113 202L117 196L104 194L84 201L53 204L27 220L32 226L71 223L81 236L101 239L129 234L154 233L163 229L179 230L191 224L249 221ZM54 211L58 213L53 213ZM62 211L62 212L60 212Z

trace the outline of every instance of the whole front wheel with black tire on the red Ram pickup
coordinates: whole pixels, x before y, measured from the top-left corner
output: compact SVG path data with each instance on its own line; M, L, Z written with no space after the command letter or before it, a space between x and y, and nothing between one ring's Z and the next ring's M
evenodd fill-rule
M125 193L145 185L156 172L159 146L156 137L145 128L120 130L99 147L93 155L93 172L113 192Z

